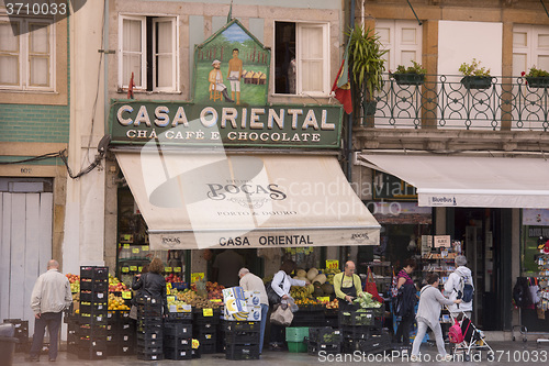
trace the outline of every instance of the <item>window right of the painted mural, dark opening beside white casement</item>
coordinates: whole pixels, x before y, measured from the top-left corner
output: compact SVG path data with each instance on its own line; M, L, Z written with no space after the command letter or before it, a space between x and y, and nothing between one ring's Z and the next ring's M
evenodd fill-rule
M274 23L274 92L329 93L327 24Z

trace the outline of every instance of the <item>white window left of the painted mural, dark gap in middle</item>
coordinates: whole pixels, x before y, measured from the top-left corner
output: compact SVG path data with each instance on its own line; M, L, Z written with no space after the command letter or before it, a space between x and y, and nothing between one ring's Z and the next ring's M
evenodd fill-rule
M121 16L119 86L134 89L178 90L177 18Z

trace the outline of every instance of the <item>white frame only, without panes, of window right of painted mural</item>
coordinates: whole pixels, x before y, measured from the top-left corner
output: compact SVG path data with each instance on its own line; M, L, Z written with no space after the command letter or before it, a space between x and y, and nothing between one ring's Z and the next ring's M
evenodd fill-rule
M295 24L295 93L282 93L282 92L276 92L274 85L273 85L273 96L277 97L328 97L330 93L330 68L329 68L329 62L330 62L330 48L329 48L329 22L303 22L303 21L293 21L293 20L276 20L273 22L273 29L276 29L277 23L293 23ZM322 47L323 47L323 75L324 75L324 80L323 80L323 90L322 91L307 91L303 90L303 59L302 59L302 45L303 45L303 29L304 27L322 27ZM273 32L273 37L276 36L276 32ZM274 44L274 53L278 51L276 49L277 41L273 38L273 44ZM273 57L273 60L276 63L276 57ZM276 68L276 64L273 65Z

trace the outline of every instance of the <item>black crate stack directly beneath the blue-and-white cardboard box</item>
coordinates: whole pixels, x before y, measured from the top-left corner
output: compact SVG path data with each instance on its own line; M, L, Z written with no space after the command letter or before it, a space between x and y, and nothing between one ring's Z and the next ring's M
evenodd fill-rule
M225 358L259 359L260 322L224 321Z

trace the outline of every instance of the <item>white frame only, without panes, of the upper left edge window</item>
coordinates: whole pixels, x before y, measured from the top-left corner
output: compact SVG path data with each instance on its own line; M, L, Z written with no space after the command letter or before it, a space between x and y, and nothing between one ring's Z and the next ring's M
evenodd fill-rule
M19 82L16 85L0 84L0 89L5 90L22 90L22 91L54 91L55 90L55 23L51 19L36 19L36 18L12 18L0 16L0 22L11 23L18 22L21 33L19 38ZM31 62L30 62L30 24L47 24L47 38L49 41L49 58L48 58L48 85L47 86L31 86Z

